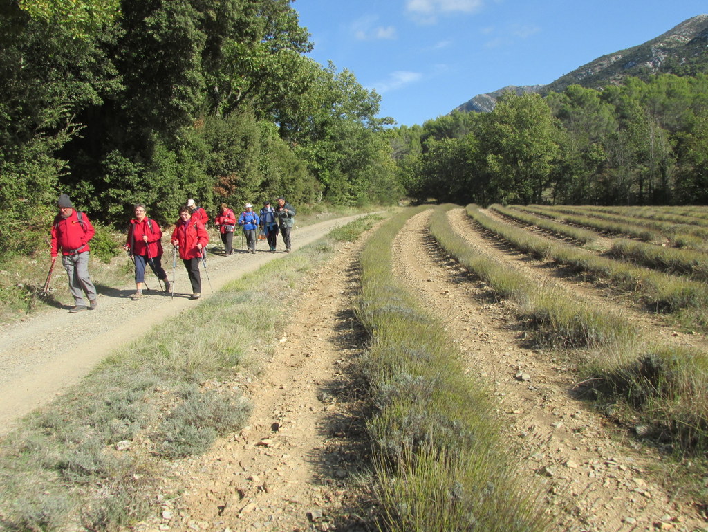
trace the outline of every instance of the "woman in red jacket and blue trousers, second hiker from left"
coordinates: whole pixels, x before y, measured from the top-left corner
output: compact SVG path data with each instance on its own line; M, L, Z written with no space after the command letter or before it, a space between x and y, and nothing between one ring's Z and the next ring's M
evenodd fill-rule
M162 267L162 230L155 220L147 217L145 205L135 205L135 220L130 220L128 239L123 249L130 251L135 260L135 294L132 300L142 298L142 285L145 282L145 264L149 264L160 281L165 283L165 292L170 293L170 282Z

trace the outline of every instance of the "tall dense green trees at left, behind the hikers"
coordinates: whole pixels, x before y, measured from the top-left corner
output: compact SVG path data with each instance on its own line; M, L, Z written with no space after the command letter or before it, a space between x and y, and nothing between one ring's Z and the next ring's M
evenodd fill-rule
M34 249L59 192L108 225L397 199L379 96L311 49L290 0L2 3L0 248Z

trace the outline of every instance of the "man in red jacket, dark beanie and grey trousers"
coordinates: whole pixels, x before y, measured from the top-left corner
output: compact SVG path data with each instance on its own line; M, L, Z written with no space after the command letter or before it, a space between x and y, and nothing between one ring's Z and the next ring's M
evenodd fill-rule
M86 310L84 292L91 308L98 306L96 287L89 276L89 240L93 238L93 225L85 213L74 210L69 196L62 194L57 201L59 214L52 223L52 261L62 251L62 265L69 277L69 291L74 296L74 307L69 312Z

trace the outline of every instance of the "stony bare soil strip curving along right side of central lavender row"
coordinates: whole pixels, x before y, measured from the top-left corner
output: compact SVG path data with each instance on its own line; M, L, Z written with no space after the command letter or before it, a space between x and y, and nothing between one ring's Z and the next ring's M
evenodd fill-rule
M520 468L541 483L549 511L558 515L556 528L629 532L705 526L692 507L673 500L649 473L659 455L573 397L567 361L525 348L513 309L493 302L489 289L435 244L428 232L430 214L413 217L396 237L396 276L443 320L469 372L489 385L503 437L520 444ZM481 252L493 248L464 220L464 210L449 215L471 245Z

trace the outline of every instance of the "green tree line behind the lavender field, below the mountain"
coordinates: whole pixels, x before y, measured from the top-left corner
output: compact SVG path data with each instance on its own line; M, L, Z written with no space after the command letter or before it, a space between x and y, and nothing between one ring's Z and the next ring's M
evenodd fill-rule
M416 200L708 203L705 74L506 94L491 113L455 112L390 135Z

